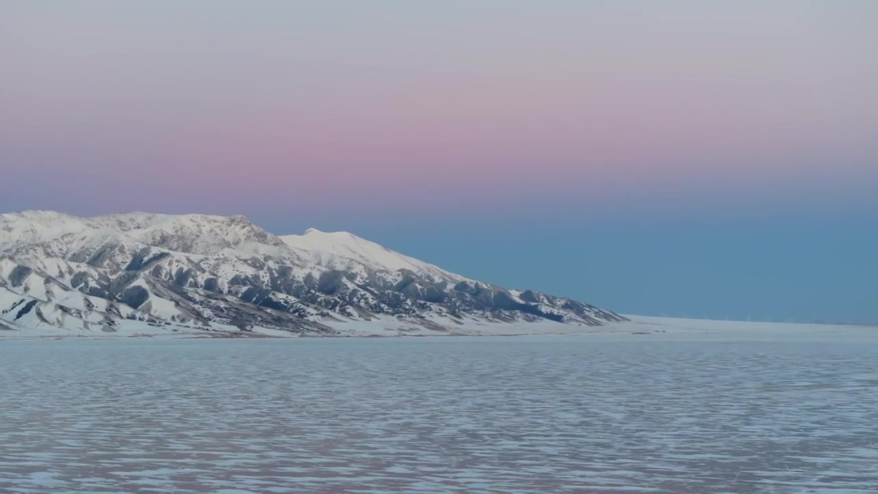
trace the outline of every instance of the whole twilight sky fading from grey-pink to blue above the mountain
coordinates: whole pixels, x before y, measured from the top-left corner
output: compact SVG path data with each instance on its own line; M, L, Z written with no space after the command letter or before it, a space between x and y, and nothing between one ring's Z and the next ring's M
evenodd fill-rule
M878 2L0 0L0 210L246 214L878 323Z

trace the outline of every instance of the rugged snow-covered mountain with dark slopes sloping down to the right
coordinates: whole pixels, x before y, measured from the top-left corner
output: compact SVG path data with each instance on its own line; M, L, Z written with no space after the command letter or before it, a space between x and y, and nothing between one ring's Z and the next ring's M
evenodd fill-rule
M29 335L483 334L623 320L345 232L274 236L204 214L0 215L0 330Z

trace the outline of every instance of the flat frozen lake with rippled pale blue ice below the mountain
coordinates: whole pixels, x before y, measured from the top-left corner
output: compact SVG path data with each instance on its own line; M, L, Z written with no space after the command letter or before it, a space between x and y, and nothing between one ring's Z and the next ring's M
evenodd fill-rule
M0 492L878 492L878 338L0 341Z

